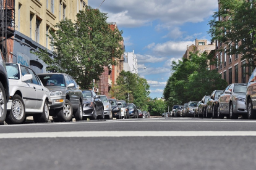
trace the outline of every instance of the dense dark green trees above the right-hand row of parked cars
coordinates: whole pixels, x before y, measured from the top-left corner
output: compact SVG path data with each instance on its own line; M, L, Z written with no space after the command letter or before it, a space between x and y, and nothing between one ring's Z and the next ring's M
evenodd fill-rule
M208 65L214 63L213 57L206 52L200 56L190 53L189 59L173 62L173 73L163 92L168 105L199 101L215 89L224 89L227 83L218 71L208 70Z

